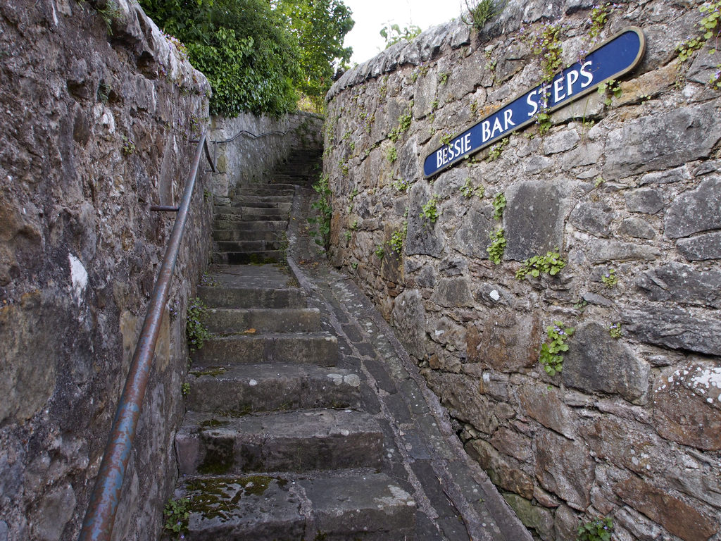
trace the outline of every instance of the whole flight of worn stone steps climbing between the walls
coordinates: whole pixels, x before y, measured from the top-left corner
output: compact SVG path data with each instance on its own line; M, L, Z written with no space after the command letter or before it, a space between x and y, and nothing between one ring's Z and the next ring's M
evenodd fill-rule
M363 375L336 366L337 338L284 264L293 190L216 208L212 283L198 291L213 338L192 355L175 439L185 539L413 539L415 501L380 472Z

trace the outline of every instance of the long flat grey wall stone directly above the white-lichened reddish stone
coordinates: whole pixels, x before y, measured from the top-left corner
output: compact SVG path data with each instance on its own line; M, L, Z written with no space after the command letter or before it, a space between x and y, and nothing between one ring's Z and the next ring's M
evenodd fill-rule
M721 355L721 322L703 313L647 307L622 312L624 334L641 342L673 349Z

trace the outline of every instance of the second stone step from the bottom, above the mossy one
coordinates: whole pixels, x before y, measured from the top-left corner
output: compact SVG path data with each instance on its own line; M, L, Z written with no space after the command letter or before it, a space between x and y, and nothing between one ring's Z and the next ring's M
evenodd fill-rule
M180 475L378 468L383 432L373 416L353 410L188 412L175 449Z

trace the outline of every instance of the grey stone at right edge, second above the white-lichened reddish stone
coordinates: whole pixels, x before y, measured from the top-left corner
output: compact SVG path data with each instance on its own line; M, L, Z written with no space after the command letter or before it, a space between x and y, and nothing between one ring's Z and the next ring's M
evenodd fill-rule
M674 262L640 274L636 285L652 301L721 308L721 271L696 271Z

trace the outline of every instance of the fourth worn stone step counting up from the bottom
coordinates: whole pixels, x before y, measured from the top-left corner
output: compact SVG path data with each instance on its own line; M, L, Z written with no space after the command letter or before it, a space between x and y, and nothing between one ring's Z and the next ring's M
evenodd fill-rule
M338 340L326 332L216 335L190 356L198 366L264 361L335 366Z

